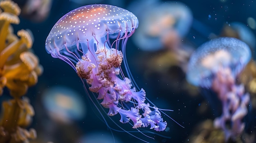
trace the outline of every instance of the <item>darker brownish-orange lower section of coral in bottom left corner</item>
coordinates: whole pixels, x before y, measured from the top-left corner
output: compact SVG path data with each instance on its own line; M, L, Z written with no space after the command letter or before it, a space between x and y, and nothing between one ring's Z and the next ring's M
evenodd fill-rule
M36 138L36 130L26 130L34 116L34 109L28 99L12 99L4 101L3 117L0 126L0 143L29 143Z

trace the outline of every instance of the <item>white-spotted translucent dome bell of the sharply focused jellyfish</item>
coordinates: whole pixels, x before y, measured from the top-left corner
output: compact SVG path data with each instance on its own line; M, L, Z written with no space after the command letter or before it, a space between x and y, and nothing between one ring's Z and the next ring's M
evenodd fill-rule
M103 8L104 10L102 10ZM88 14L88 11L94 12L96 9L104 11L108 15L103 15L99 10L97 10L98 15ZM74 17L74 15L77 16ZM79 16L82 19L75 21L76 18L80 18ZM91 24L93 26L90 26ZM54 24L46 38L45 49L47 53L57 53L57 50L61 51L65 46L73 46L76 42L85 43L94 37L106 37L108 34L115 33L132 34L138 28L138 25L137 17L126 9L109 4L85 5L66 13Z

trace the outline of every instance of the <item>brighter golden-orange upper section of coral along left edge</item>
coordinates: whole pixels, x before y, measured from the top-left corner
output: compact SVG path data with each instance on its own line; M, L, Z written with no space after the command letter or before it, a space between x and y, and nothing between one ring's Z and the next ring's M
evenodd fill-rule
M19 24L20 8L17 4L5 0L0 2L0 95L7 86L13 97L25 95L27 88L37 82L42 73L38 57L29 52L32 38L29 31L20 30L16 37L10 24Z

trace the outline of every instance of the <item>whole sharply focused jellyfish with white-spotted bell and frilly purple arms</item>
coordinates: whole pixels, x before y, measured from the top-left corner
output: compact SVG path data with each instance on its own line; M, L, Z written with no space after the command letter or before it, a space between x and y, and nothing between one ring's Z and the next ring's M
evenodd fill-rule
M147 100L143 88L137 87L125 57L126 42L138 24L134 14L116 6L79 7L53 26L45 48L52 57L65 61L76 71L98 110L107 108L108 117L119 114L121 123L130 123L137 130L150 126L163 131L167 123L161 113L166 113ZM121 68L123 59L128 77Z

